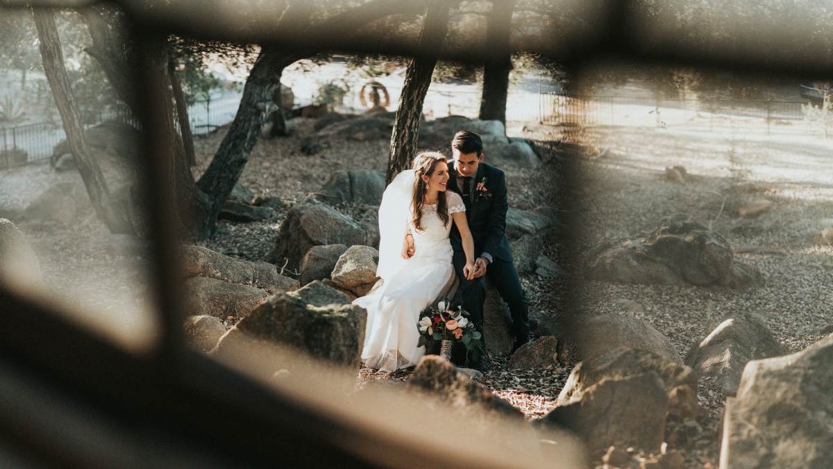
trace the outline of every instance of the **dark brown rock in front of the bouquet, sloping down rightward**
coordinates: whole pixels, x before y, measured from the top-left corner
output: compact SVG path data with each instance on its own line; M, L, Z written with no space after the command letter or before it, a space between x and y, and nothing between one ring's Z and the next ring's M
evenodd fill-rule
M510 403L495 396L485 386L471 381L441 356L423 356L414 368L407 388L429 392L446 401L452 408L476 407L480 412L494 412L501 416L522 419L523 414Z

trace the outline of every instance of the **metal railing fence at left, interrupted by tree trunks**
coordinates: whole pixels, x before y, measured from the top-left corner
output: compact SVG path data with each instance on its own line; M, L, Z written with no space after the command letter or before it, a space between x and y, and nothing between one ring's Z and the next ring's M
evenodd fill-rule
M207 134L223 124L228 124L237 113L240 95L200 100L188 106L192 134ZM84 127L90 128L108 120L117 120L141 129L141 123L125 106L107 110L83 112ZM177 132L180 132L179 123ZM46 161L56 145L66 138L59 119L55 122L17 125L0 128L0 168Z

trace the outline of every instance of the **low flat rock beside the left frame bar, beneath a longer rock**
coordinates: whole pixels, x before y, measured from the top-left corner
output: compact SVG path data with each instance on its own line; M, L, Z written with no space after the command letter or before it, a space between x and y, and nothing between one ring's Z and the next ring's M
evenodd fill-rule
M185 308L189 315L243 317L260 305L269 294L254 286L192 277L185 280Z

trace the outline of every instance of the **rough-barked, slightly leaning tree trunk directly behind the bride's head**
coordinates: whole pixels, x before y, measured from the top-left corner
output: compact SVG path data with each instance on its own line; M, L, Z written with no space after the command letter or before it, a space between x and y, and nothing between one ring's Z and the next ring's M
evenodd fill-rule
M448 29L447 0L430 0L420 35L420 55L412 58L405 73L405 83L399 96L399 107L393 121L391 154L387 162L386 184L403 169L411 167L416 154L416 139L422 116L422 104L431 85L436 58Z

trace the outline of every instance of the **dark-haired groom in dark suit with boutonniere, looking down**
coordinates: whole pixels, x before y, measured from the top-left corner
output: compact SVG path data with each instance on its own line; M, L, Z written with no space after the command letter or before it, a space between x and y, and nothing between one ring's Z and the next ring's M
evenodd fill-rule
M512 351L529 340L529 319L526 295L521 288L509 241L506 240L506 178L503 171L483 163L483 143L480 135L467 130L454 134L451 140L452 161L448 189L460 194L466 204L466 219L474 238L474 279L463 275L466 254L463 252L460 232L451 228L452 261L460 279L462 305L471 313L478 330L483 330L483 301L486 299L486 280L494 285L501 298L509 305L512 317L512 335L515 345ZM488 340L485 337L485 340ZM481 357L471 357L471 366L485 367Z

